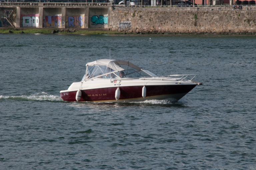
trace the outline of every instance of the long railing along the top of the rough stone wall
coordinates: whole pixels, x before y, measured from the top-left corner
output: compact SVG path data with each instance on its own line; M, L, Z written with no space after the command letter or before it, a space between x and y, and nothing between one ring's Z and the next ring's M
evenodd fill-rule
M114 5L113 10L138 10L138 11L231 11L231 10L256 10L255 5L211 5L196 7L177 7L176 5L168 6L124 6Z

